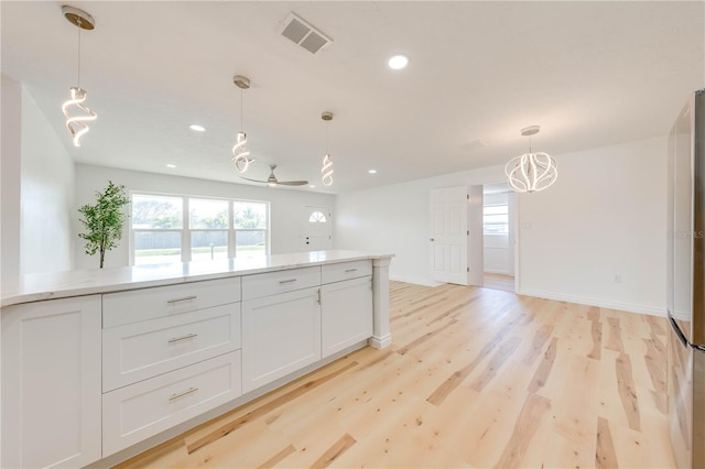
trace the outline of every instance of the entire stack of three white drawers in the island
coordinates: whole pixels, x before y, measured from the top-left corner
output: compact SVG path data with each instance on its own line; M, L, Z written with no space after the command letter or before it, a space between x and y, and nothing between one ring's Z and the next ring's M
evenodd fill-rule
M105 294L102 457L239 397L240 279Z

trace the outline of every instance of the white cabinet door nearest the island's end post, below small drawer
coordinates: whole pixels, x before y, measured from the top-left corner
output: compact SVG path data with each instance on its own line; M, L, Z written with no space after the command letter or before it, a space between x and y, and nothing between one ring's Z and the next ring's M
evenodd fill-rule
M372 335L372 277L323 285L321 291L323 357Z

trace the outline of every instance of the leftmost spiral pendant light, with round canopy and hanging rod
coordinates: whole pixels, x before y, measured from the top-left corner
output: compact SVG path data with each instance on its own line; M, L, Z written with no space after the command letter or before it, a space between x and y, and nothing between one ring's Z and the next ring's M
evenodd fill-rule
M88 132L89 128L86 122L90 122L98 118L85 102L87 98L86 90L80 87L80 30L93 30L96 22L93 17L83 10L74 7L62 7L62 13L72 24L78 26L78 73L76 86L70 88L70 99L62 105L62 111L66 117L66 129L73 138L75 146L80 146L80 138ZM72 114L72 112L82 111L82 114Z

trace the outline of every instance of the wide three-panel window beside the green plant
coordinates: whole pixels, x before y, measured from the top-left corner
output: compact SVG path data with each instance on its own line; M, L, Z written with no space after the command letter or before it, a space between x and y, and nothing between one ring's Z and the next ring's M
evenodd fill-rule
M132 194L130 233L133 265L265 255L269 204Z

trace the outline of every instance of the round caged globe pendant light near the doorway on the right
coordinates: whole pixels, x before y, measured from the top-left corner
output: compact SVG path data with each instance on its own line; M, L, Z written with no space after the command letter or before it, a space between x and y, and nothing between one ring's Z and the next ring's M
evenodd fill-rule
M510 160L505 166L505 174L514 192L540 192L551 187L558 177L558 167L553 156L531 151L531 135L539 133L540 129L539 126L521 129L521 134L529 137L529 153Z

